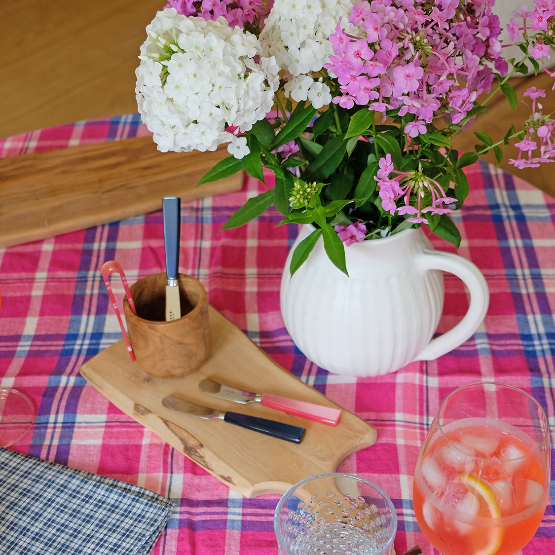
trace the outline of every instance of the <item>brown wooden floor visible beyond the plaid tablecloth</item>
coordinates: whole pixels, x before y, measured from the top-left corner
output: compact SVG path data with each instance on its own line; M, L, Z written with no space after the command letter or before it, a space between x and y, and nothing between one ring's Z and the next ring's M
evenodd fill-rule
M135 67L145 27L165 0L2 0L0 2L0 137L70 123L80 119L133 113ZM532 84L547 89L544 108L555 111L552 79L519 78L521 92ZM527 106L519 107L526 117ZM514 114L497 102L457 147L472 149L473 132L483 130L502 138ZM509 149L506 160L516 156ZM492 160L492 159L491 159ZM555 169L515 170L502 166L555 196Z

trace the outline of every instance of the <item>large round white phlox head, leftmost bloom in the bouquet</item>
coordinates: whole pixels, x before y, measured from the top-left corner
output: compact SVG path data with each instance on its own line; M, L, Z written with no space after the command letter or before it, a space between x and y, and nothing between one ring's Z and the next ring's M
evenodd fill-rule
M147 27L139 59L137 105L158 150L215 150L233 140L234 155L248 154L246 139L227 129L244 132L264 119L279 86L278 64L253 34L223 17L167 8Z

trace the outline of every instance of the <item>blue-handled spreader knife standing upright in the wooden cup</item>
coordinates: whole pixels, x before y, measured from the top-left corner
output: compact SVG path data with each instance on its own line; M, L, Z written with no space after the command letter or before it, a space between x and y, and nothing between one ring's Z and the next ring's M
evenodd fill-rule
M178 268L181 201L176 196L165 196L162 201L164 220L164 250L166 258L166 321L181 317Z

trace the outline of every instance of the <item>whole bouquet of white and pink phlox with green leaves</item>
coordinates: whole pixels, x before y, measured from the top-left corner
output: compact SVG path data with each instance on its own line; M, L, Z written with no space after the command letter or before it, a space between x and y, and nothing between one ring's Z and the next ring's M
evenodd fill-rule
M202 183L246 171L275 185L224 225L274 205L281 223L313 224L290 270L322 236L347 273L345 247L422 225L458 246L450 213L468 193L463 168L490 150L518 149L517 168L553 162L555 121L535 88L529 119L474 152L452 138L487 110L508 79L546 70L555 0L534 0L508 25L521 59L503 58L495 0L170 0L147 27L137 69L143 121L163 152L230 157Z

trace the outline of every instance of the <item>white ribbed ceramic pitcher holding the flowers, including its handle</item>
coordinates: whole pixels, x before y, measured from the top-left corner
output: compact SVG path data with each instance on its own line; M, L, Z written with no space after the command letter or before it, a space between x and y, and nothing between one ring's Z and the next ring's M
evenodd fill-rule
M290 276L292 251L312 231L301 228L281 280L281 312L299 349L334 374L377 376L415 360L433 360L466 341L483 321L486 280L470 261L433 250L418 229L345 248L349 277L327 258L320 238ZM442 271L470 292L463 319L432 339L443 309Z

